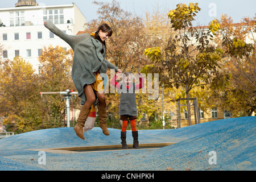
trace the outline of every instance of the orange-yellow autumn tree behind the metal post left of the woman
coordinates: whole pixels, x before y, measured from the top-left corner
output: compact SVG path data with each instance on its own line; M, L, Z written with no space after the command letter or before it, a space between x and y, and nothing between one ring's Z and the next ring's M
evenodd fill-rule
M60 92L67 89L75 90L75 85L71 78L73 51L66 51L62 47L44 47L39 56L39 63L42 65L40 74L40 92ZM39 96L39 94L38 94ZM40 102L43 109L43 126L62 127L65 115L65 102L59 94L44 95ZM74 107L78 107L79 102L75 100Z

